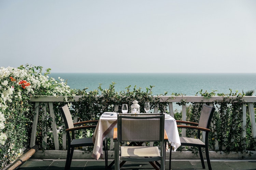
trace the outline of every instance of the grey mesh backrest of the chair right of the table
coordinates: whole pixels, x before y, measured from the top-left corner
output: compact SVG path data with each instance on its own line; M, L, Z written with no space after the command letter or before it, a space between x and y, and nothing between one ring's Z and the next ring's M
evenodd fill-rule
M210 128L212 116L214 113L215 107L208 106L203 104L202 111L200 114L198 126L201 128Z

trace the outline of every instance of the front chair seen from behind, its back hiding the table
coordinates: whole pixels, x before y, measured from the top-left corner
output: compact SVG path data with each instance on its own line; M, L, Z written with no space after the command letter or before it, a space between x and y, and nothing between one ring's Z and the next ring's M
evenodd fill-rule
M164 114L118 114L117 128L114 128L115 170L120 169L120 161L155 162L160 161L161 170L165 169L165 142L168 141L164 129ZM119 146L120 142L135 146ZM158 147L141 146L144 141L160 142ZM138 146L136 146L138 145ZM122 164L121 164L122 166Z

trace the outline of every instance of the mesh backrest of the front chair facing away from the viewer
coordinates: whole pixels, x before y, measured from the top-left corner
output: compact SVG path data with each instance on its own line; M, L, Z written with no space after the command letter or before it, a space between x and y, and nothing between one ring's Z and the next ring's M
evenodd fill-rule
M163 141L164 114L118 114L118 141Z

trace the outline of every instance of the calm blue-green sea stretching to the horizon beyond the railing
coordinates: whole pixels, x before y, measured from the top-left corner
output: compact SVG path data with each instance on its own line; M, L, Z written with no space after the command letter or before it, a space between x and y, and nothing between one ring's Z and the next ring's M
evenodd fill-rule
M67 80L72 89L84 89L87 91L98 89L99 84L103 89L109 88L115 82L117 92L126 90L131 85L131 90L136 85L146 91L146 87L155 86L153 95L161 95L166 91L172 93L195 96L201 89L203 92L229 94L242 93L248 90L256 90L256 73L51 73L49 77L58 77ZM198 94L200 96L200 94Z

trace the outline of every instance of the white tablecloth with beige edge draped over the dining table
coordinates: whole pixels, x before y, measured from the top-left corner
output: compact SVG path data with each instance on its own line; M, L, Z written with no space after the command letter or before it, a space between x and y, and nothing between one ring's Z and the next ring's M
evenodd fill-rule
M116 127L117 114L113 116L102 114L93 135L94 149L92 157L94 159L98 160L100 157L103 157L103 140L105 138L113 138L113 131ZM168 114L165 114L165 131L169 143L174 148L174 151L176 151L181 146L181 141L176 120Z

